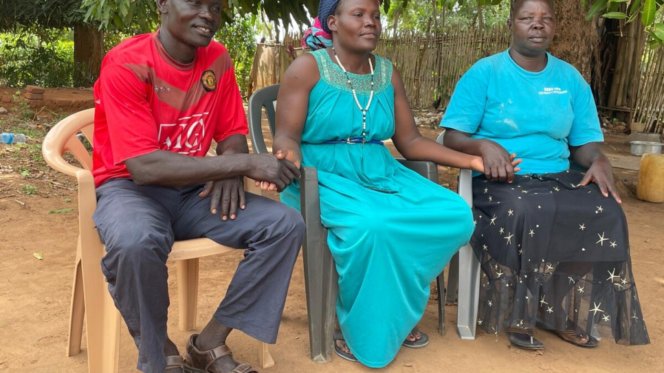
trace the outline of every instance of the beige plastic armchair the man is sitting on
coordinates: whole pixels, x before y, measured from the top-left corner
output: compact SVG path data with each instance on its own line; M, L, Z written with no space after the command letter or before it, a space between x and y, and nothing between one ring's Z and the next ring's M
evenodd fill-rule
M44 138L42 152L46 162L78 181L78 245L74 284L71 289L69 341L67 356L80 352L83 321L87 330L88 370L90 373L118 373L120 358L120 312L113 304L108 284L104 280L100 260L106 253L95 229L92 214L97 205L95 185L90 172L92 157L76 135L82 133L92 144L94 109L69 115L61 120ZM69 152L81 167L63 158ZM210 150L208 155L215 155ZM245 189L260 194L254 181L245 178ZM199 258L235 251L208 238L176 241L168 260L177 262L177 293L181 330L196 327ZM274 365L267 343L261 342L258 361L262 368Z

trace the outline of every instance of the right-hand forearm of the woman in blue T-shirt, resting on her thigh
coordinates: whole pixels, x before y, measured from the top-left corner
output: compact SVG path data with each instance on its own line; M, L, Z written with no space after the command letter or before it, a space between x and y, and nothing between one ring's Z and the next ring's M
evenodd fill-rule
M601 151L599 144L589 142L582 146L570 146L570 152L571 158L579 166L588 168L586 176L579 185L588 185L592 181L597 184L601 194L605 197L611 195L618 203L622 203L620 195L615 188L611 162L604 155L604 152Z

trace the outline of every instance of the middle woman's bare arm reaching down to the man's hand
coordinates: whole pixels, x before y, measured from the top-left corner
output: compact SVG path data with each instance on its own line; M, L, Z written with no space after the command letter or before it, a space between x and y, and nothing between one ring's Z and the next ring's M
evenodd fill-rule
M316 59L307 53L288 67L279 87L272 152L297 166L302 161L300 140L307 120L309 93L319 79Z

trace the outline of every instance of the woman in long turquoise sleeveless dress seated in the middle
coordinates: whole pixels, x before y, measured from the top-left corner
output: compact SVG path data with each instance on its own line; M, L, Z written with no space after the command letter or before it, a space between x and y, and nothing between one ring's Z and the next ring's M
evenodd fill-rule
M402 343L423 347L428 340L410 333L430 282L474 229L457 194L401 166L382 142L392 139L407 159L480 172L483 161L419 134L397 70L371 54L381 32L375 0L324 0L319 9L316 25L331 31L333 45L300 56L286 71L273 150L318 169L320 217L339 273L343 337L335 337L335 352L381 368ZM321 34L313 36L328 43ZM281 200L299 207L298 186Z

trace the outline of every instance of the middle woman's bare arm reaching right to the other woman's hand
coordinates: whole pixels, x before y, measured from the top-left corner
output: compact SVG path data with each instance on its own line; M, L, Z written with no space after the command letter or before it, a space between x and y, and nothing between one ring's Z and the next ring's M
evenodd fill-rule
M478 155L469 155L452 150L446 146L423 137L412 116L406 89L397 69L392 72L392 86L395 89L395 135L392 141L397 150L406 157L415 161L433 161L443 166L456 168L470 168L484 172L483 161Z

